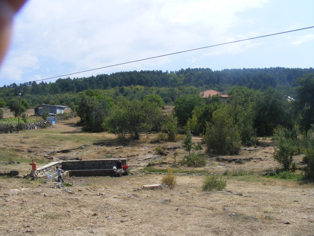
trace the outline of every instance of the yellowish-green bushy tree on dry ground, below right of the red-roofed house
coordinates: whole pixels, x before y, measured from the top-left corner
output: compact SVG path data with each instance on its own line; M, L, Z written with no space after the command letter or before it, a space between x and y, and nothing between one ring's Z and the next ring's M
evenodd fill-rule
M209 151L229 155L239 153L240 135L230 116L229 105L224 104L214 111L213 119L207 125L205 140Z

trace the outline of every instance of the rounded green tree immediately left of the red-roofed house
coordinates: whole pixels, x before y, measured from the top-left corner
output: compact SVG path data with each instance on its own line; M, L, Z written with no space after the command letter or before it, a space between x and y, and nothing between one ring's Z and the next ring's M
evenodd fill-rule
M173 109L179 124L185 125L187 119L192 118L194 108L203 105L203 98L197 93L179 96L175 101L175 107Z

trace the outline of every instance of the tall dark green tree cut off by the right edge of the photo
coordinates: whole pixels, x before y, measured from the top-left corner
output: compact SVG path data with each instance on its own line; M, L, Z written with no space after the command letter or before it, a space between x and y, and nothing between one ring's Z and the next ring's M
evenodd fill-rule
M295 111L300 115L300 126L307 135L314 124L314 73L297 79Z

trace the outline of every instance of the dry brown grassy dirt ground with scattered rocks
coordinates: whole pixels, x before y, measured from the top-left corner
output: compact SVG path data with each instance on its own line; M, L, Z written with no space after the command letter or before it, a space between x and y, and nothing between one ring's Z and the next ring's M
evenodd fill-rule
M30 172L31 159L43 166L55 160L121 157L127 158L131 174L70 177L65 180L73 186L65 188L45 177L0 177L0 235L314 235L313 185L263 176L279 167L269 138L260 139L257 149L223 156L242 159L242 164L212 156L202 168L175 167L202 174L178 174L172 190L143 190L145 184L160 183L163 175L141 169L149 163L155 168L176 164L187 155L182 140L149 143L156 134L142 134L139 141L119 142L106 132L82 132L75 125L78 119L1 134L0 172L17 170L23 176ZM202 139L193 137L193 142ZM157 155L157 146L168 155ZM56 153L65 149L70 150ZM8 165L8 157L20 164ZM302 155L295 160L302 167ZM204 171L239 170L254 175L229 177L225 191L201 191Z

